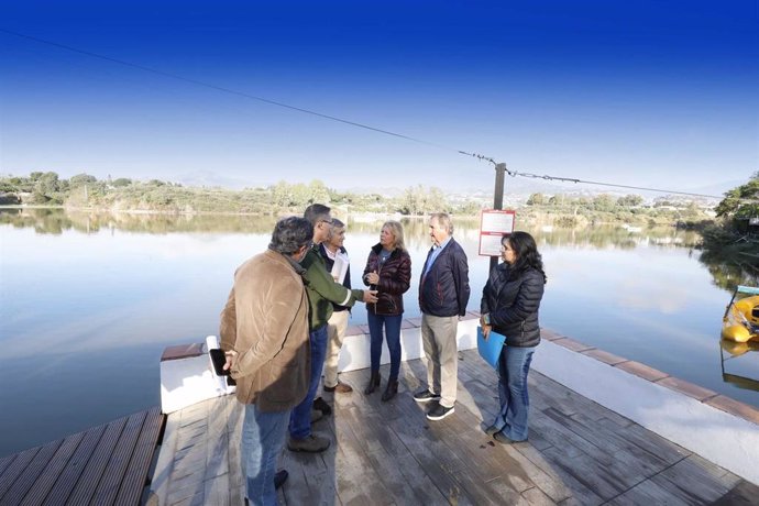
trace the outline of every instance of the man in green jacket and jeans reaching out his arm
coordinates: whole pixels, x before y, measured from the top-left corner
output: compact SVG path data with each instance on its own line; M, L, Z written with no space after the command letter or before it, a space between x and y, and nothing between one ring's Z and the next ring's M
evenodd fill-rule
M327 271L324 260L319 254L319 244L327 240L332 226L331 209L321 204L306 208L304 218L314 224L314 248L300 265L306 270L304 280L308 294L309 341L311 346L311 377L306 398L290 414L287 448L292 451L320 452L330 446L328 438L311 433L311 406L321 378L327 353L327 320L332 316L332 302L352 307L356 300L376 302L376 290L351 290L337 283Z

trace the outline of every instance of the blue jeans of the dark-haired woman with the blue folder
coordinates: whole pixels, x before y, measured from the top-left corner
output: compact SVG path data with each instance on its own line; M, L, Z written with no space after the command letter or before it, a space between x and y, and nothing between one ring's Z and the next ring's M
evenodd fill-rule
M498 358L498 398L501 411L493 425L508 439L524 441L528 432L530 397L527 374L538 346L504 346Z

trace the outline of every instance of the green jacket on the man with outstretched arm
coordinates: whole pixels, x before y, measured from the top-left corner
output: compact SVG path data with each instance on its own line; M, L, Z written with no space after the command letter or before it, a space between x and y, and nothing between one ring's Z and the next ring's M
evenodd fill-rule
M311 248L300 262L306 270L304 283L310 305L308 321L311 331L327 324L332 316L332 302L353 307L356 300L364 300L363 290L348 289L332 278L317 248Z

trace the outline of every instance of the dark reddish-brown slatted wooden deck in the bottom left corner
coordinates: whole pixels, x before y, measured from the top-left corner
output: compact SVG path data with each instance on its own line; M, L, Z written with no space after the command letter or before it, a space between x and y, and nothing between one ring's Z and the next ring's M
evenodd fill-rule
M156 407L0 460L0 505L144 502L163 421Z

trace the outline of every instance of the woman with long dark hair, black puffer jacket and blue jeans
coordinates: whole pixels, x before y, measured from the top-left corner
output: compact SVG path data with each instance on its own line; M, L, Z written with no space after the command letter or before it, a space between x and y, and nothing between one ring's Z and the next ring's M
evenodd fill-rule
M503 444L527 440L529 395L527 374L540 343L538 308L543 296L543 263L527 232L504 235L503 263L491 272L482 294L480 323L506 337L498 358L501 410L486 432Z

